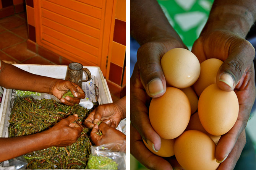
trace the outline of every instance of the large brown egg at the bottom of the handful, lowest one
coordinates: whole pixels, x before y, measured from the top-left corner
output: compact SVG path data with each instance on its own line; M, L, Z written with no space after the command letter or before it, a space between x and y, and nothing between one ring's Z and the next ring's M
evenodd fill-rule
M215 143L205 133L189 130L182 133L174 143L178 163L186 170L215 170Z

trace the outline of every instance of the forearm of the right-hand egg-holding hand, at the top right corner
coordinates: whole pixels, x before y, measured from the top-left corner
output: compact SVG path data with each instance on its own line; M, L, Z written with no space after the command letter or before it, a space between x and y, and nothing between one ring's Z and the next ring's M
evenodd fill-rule
M256 20L254 0L215 0L203 32L228 30L245 38Z

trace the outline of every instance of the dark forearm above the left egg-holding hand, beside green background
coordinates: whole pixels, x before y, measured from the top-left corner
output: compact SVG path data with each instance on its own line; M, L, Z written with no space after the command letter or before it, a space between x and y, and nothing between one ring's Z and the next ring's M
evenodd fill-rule
M130 33L140 45L169 37L181 41L156 0L131 0Z

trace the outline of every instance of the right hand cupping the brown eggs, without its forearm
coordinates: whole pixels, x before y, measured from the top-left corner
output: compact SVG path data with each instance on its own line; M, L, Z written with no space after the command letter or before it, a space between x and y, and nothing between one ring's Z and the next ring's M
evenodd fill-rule
M237 94L239 102L237 121L228 133L222 135L215 150L215 158L219 162L227 158L232 164L229 167L234 167L237 162L235 159L237 156L234 155L237 152L234 150L241 150L244 147L243 144L237 143L246 127L256 96L253 66L255 50L247 40L231 32L217 30L202 33L194 42L192 52L200 63L209 58L224 61L217 73L217 85L224 91L234 90ZM221 168L222 165L219 169Z

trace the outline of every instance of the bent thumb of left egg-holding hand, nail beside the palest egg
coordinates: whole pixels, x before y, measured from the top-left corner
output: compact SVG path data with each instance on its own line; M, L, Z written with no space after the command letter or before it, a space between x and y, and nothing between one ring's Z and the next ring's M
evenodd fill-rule
M171 38L160 38L147 42L138 49L137 61L141 83L150 97L160 97L166 91L166 82L161 67L161 58L163 55L174 48L187 47Z

